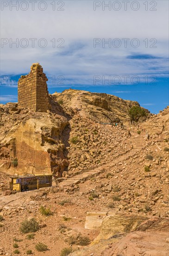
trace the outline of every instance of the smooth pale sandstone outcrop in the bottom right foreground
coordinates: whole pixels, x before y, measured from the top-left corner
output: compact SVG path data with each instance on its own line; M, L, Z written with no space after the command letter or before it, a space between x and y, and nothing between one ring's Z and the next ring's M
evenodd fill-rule
M169 254L169 219L108 212L88 213L86 225L100 228L89 247L70 256L167 256ZM98 218L102 222L98 222ZM92 220L90 225L90 220ZM86 226L86 227L87 227Z

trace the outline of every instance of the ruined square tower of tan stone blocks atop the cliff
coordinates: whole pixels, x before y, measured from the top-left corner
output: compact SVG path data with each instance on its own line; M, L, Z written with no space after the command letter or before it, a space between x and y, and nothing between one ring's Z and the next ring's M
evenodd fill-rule
M22 75L18 81L18 106L31 108L33 111L46 112L50 109L48 81L39 63L33 63L31 72Z

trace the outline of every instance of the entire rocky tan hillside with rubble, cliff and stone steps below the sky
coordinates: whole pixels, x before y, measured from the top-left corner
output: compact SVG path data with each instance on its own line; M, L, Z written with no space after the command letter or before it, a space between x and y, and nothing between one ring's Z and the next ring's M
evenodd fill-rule
M44 243L46 256L167 256L169 108L131 125L139 104L113 95L70 89L50 104L0 105L0 255L16 242L20 255L41 256ZM8 195L10 174L51 172L54 187ZM28 236L20 226L31 218Z

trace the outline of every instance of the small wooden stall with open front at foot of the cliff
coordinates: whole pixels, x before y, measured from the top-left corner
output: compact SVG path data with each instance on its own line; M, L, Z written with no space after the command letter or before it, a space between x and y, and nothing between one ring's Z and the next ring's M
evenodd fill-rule
M12 190L16 192L29 191L52 186L52 174L12 176Z

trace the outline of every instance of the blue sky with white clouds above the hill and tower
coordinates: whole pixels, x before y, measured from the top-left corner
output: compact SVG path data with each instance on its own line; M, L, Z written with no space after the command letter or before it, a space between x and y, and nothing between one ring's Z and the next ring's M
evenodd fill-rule
M55 10L48 0L44 11L38 1L34 11L29 1L25 11L8 2L0 20L1 103L17 101L19 77L39 62L50 93L67 88L108 93L138 101L152 113L169 105L168 1L153 1L156 6L148 1L147 7L139 1L137 11L133 1L119 11L114 1L105 10L97 1L95 11L92 0L67 0L63 6L56 1Z

